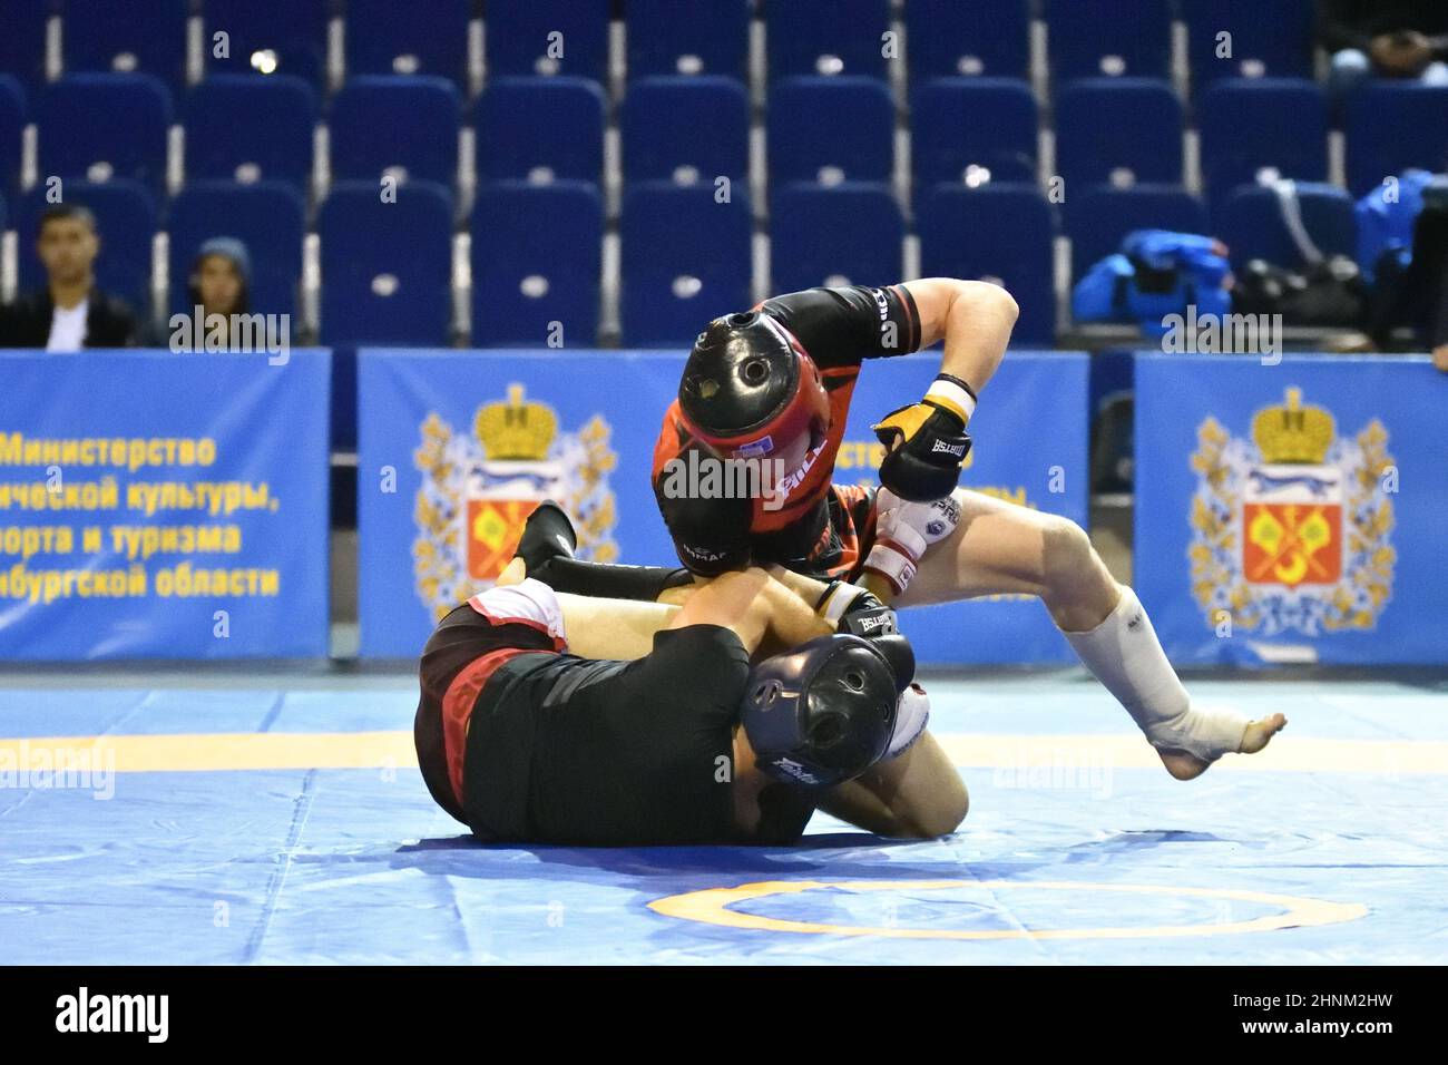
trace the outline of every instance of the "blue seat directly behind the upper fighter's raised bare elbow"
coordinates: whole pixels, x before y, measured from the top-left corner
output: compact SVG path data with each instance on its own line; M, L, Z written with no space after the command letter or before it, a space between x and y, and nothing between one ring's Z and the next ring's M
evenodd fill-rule
M1012 339L1018 343L1053 342L1056 219L1035 185L935 185L922 197L917 223L919 267L925 277L1003 284L1021 309Z

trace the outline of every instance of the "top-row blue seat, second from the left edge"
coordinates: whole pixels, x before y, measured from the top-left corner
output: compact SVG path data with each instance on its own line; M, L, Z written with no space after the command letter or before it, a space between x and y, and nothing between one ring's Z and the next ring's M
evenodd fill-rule
M188 13L188 0L65 0L65 70L155 74L180 93Z

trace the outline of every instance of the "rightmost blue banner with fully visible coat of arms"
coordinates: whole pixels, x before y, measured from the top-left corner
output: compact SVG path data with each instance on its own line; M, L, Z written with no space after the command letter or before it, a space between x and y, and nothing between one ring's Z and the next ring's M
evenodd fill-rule
M1137 356L1135 587L1176 662L1448 662L1448 377Z

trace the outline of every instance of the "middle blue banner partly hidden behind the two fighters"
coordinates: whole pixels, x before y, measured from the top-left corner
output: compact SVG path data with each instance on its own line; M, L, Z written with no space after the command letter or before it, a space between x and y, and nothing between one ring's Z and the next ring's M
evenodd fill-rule
M487 587L536 500L560 500L579 555L675 565L649 471L678 391L675 352L363 349L358 365L359 620L363 656L414 656L436 620ZM914 401L938 355L864 367L835 480L876 483L869 426ZM972 420L963 483L1086 522L1080 354L1006 356ZM908 610L925 662L1057 662L1070 652L1028 600Z

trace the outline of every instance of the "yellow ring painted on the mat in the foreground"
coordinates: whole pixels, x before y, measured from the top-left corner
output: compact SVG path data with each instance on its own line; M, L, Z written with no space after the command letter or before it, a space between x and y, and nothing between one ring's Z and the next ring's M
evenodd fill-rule
M1112 891L1134 895L1171 895L1186 898L1229 898L1242 903L1280 906L1281 913L1254 920L1226 922L1225 924L1160 924L1138 927L1105 929L899 929L869 927L860 924L817 924L802 920L779 920L740 913L730 907L756 898L772 895L802 894L843 888L847 891L944 891L960 888L969 891ZM1234 891L1231 888L1163 887L1157 884L1083 884L1077 881L1035 880L766 880L759 884L740 884L731 888L708 888L669 895L649 903L649 909L665 917L723 924L731 929L757 929L760 932L804 932L830 936L886 936L891 939L1154 939L1158 936L1228 936L1241 932L1270 932L1273 929L1308 927L1313 924L1337 924L1367 916L1367 907L1360 903L1328 903L1321 898L1296 895L1270 895L1261 891Z

